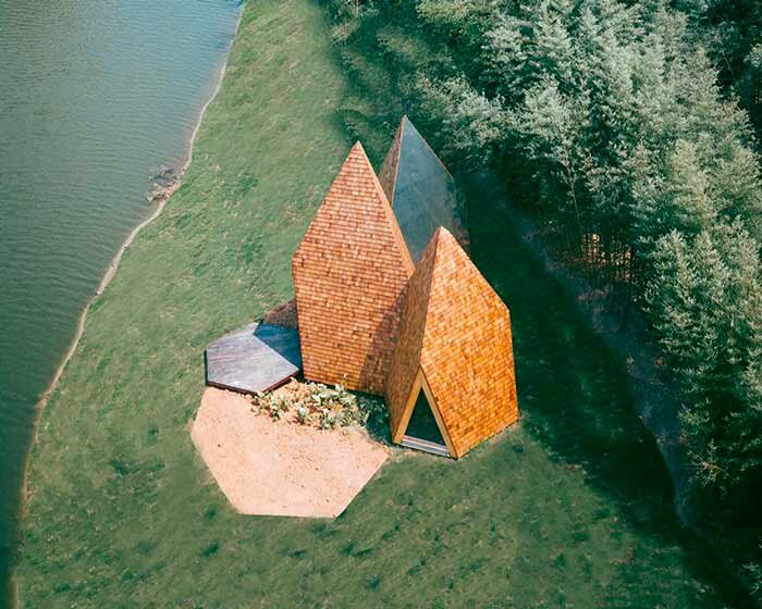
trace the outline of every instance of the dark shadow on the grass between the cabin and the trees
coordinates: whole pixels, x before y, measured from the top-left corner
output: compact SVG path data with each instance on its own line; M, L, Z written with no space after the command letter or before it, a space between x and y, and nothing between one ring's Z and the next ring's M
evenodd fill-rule
M705 546L679 526L672 480L637 415L626 370L495 211L502 194L487 195L468 199L471 256L511 310L523 428L553 460L581 467L630 525L686 546L696 572L745 606Z

